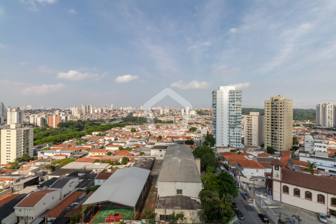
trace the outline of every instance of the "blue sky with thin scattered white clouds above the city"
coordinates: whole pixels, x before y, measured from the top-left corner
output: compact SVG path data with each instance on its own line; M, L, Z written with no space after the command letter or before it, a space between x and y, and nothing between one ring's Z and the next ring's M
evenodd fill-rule
M234 85L243 107L316 108L336 103L335 71L336 1L0 2L5 106L140 107L170 88L210 108Z

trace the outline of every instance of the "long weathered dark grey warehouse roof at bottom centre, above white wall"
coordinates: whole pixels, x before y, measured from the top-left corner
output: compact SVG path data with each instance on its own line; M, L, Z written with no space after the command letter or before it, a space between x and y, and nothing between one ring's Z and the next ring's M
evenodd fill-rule
M202 183L190 146L173 145L166 150L158 182Z

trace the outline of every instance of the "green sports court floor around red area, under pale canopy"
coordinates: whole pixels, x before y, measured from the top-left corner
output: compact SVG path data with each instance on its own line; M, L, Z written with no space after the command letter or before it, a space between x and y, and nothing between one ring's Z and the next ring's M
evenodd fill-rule
M123 216L121 219L123 220L133 220L133 208L122 206L119 204L115 204L112 202L105 202L100 210L97 212L97 214L93 217L90 223L105 223L105 219L109 215L113 215L115 213L122 213Z

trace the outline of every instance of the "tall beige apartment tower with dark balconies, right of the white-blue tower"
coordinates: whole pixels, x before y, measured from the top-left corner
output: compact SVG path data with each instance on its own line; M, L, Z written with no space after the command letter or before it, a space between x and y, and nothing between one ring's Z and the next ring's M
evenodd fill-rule
M290 150L293 145L293 100L286 99L285 95L265 100L264 127L265 148Z

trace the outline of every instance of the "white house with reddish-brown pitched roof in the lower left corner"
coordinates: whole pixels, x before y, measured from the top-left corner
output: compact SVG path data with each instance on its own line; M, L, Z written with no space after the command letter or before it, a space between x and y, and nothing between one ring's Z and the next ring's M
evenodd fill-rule
M60 190L45 189L28 194L15 209L18 224L32 223L42 212L51 208L60 200Z

